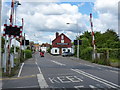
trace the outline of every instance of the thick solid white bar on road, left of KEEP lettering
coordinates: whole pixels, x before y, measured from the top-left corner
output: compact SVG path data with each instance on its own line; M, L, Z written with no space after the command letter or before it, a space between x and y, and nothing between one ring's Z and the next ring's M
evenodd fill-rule
M40 88L48 88L48 84L45 81L43 74L37 74L37 78Z

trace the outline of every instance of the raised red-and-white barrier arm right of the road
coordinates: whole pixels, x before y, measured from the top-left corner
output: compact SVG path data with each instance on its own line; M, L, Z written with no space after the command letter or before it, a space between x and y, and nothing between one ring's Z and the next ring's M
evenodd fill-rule
M91 25L91 33L92 33L92 45L93 45L93 59L96 59L96 46L95 46L95 37L93 32L93 22L92 22L92 14L90 13L90 25Z

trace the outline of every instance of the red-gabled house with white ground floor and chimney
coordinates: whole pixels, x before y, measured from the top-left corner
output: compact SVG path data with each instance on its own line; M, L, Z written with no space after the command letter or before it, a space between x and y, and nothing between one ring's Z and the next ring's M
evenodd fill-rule
M59 35L56 32L56 38L52 41L51 54L61 55L63 52L74 53L71 40L65 34L62 33Z

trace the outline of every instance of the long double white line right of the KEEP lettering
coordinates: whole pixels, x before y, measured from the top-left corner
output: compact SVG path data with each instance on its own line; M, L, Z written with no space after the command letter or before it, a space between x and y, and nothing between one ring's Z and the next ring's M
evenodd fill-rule
M94 75L92 75L92 74L89 74L89 73L86 73L86 72L84 72L84 71L82 71L82 70L79 70L79 69L72 69L72 71L75 71L75 72L77 72L77 73L79 73L79 74L82 74L82 75L84 75L84 76L86 76L86 77L89 77L89 78L91 78L91 79L93 79L93 80L96 80L96 81L98 81L98 82L100 82L100 83L103 83L103 84L105 84L105 85L107 85L107 86L110 86L110 87L112 87L112 88L120 88L120 86L119 85L117 85L117 84L114 84L114 83L112 83L112 82L109 82L109 81L107 81L107 80L104 80L104 79L102 79L102 78L99 78L99 77L97 77L97 76L94 76Z

